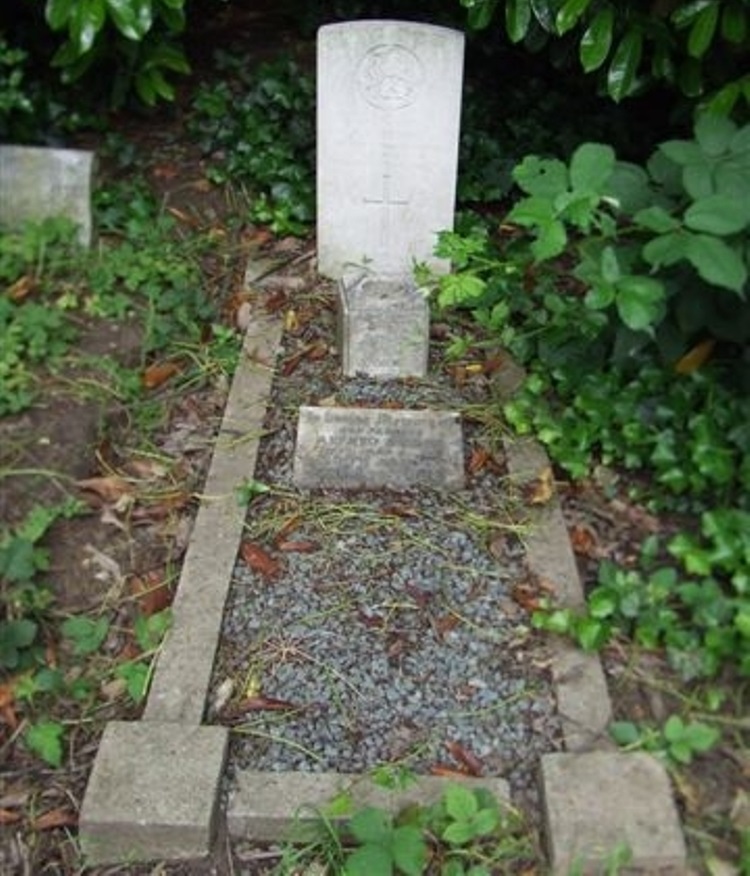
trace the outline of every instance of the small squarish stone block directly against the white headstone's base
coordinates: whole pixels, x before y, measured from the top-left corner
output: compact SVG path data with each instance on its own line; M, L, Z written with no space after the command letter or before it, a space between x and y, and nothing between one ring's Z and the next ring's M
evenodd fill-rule
M429 309L410 280L360 277L339 283L339 344L345 377L424 377Z

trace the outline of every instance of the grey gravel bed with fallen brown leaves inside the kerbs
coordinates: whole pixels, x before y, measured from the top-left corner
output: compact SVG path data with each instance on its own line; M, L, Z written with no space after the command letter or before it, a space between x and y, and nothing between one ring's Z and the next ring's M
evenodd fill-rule
M318 306L284 341L255 473L269 489L250 503L225 612L209 718L235 731L229 774L468 765L526 794L560 732L548 655L517 598L524 527L501 451L467 425L468 483L453 493L291 483L301 404L457 409L487 387L459 392L437 373L344 382ZM327 355L284 376L311 343ZM475 471L480 447L491 457Z

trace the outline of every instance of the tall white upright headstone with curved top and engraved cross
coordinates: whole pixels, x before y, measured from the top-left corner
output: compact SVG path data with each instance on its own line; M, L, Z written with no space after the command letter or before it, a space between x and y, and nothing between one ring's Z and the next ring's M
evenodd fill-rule
M399 21L318 32L318 268L410 276L453 227L463 34Z

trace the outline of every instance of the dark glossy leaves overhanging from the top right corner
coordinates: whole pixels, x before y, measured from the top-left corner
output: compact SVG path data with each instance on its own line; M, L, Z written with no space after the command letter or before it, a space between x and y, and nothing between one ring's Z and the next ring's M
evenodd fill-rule
M750 11L742 0L460 0L469 25L486 28L498 15L509 39L532 51L550 44L558 63L577 59L600 72L614 100L656 82L712 110L750 103L747 74ZM504 13L504 15L502 14Z

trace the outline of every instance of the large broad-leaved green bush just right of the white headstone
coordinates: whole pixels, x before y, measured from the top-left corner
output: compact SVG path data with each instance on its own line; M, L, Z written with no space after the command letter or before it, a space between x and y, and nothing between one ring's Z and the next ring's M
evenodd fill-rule
M576 260L587 307L625 329L621 348L651 335L676 358L700 332L750 338L750 125L704 115L647 170L587 143L569 166L529 156L514 178L525 197L508 219L533 229L537 262Z

